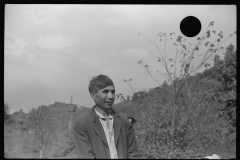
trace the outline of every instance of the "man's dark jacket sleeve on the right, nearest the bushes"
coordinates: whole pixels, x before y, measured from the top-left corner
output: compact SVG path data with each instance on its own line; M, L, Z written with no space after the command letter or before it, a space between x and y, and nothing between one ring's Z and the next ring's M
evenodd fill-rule
M127 123L127 136L128 136L128 158L140 158L136 135L133 126Z

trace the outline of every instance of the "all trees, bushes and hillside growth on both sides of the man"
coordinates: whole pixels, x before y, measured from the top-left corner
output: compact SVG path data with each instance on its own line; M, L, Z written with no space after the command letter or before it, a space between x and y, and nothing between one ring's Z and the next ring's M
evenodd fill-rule
M152 55L166 73L155 73L165 81L160 83L150 66L140 60L157 86L137 92L133 79L124 79L133 95L124 98L118 94L116 98L122 102L113 108L137 120L134 129L142 158L200 158L213 153L224 159L236 157L237 51L233 45L221 47L236 32L224 39L221 31L217 34L211 29L213 25L210 22L193 43L177 36L174 51L167 49L174 32L158 34L163 49L139 34L157 49L158 55ZM77 157L71 127L90 108L55 102L29 113L9 114L9 109L4 103L5 158Z

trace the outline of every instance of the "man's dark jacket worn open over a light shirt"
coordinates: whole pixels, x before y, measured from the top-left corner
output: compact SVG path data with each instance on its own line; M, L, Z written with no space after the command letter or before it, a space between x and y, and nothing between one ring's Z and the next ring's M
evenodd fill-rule
M133 127L124 117L112 110L114 142L118 158L138 158ZM73 128L79 158L111 158L107 139L94 107Z

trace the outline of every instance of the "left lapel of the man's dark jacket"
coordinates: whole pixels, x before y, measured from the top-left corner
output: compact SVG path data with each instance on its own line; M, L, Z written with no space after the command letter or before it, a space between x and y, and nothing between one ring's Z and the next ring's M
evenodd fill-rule
M98 119L95 111L94 111L94 107L92 109L93 112L93 119L94 119L94 124L92 126L92 128L95 130L95 132L97 133L97 135L102 139L102 141L104 142L104 144L108 147L108 143L107 143L107 139L105 136L105 132L103 130L102 124L100 122L100 120Z

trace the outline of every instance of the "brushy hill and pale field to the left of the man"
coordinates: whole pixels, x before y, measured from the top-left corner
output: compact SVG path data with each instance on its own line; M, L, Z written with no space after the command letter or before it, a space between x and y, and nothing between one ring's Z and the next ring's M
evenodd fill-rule
M75 112L69 112L72 108ZM12 123L4 119L5 158L76 158L70 114L78 120L88 109L55 102L8 114Z

